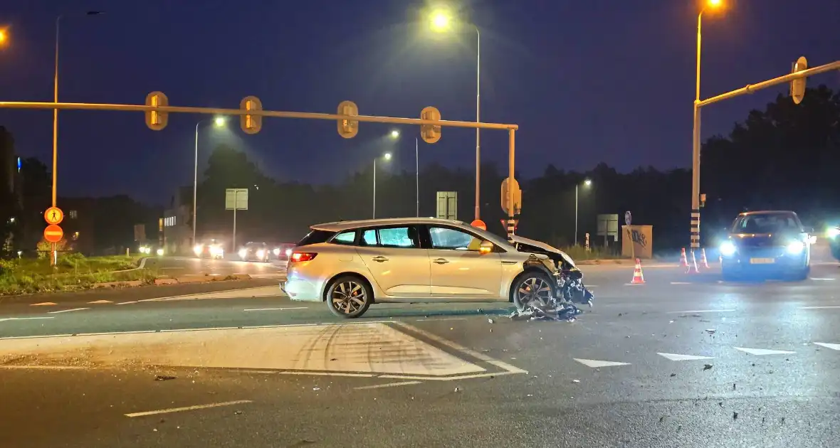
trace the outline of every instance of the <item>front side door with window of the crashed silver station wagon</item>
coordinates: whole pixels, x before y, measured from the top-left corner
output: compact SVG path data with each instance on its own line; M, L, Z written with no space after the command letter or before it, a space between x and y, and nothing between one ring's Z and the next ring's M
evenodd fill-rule
M464 229L427 228L433 297L497 299L501 290L499 253L480 253L484 240Z

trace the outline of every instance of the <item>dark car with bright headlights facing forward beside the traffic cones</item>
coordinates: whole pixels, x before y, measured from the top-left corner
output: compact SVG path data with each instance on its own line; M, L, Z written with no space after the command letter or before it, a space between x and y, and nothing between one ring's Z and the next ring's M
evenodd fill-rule
M741 213L720 251L725 280L750 274L804 280L811 272L811 237L793 211Z

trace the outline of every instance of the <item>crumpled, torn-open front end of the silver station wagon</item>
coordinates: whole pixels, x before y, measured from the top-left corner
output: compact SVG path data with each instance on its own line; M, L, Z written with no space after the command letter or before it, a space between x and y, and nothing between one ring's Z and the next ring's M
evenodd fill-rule
M518 303L512 319L528 320L575 320L582 311L579 305L592 306L595 295L583 284L583 273L574 263L555 263L546 255L533 254L529 262L538 260L554 281L549 297L532 294L532 300Z

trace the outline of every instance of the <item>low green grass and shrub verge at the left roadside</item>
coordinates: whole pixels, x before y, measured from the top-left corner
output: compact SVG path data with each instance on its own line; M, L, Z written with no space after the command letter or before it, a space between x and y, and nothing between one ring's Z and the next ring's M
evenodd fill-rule
M86 258L79 253L60 256L55 267L48 259L0 260L0 295L87 289L126 280L153 282L155 273L137 268L138 262L137 257Z

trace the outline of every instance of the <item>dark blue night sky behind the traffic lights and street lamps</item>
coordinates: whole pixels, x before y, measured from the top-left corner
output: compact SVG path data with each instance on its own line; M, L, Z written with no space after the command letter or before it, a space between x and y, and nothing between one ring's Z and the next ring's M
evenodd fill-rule
M549 163L690 166L699 2L449 4L481 31L481 118L519 124L522 175L540 175ZM97 9L107 13L84 15ZM362 114L418 117L435 106L444 119L475 120L475 31L434 36L425 9L428 3L399 0L3 2L0 99L52 100L55 17L65 13L60 101L139 104L160 90L176 106L239 107L255 95L271 110L335 112L352 100ZM784 75L801 55L811 66L840 59L837 29L837 0L728 0L704 18L701 96ZM837 90L840 73L808 82ZM707 107L703 138L728 133L786 89ZM177 185L192 185L200 117L173 114L160 132L138 113L59 118L60 195L128 193L163 203ZM45 162L51 120L50 111L0 111L18 154ZM352 140L340 138L334 122L267 119L254 136L239 130L238 119L228 127L202 127L201 159L219 142L238 141L282 180L335 182L390 149L382 136L391 128L375 123L361 123ZM401 131L391 164L413 170L418 128ZM507 170L507 135L481 135L484 159ZM444 128L440 142L420 145L421 164L474 164L471 129Z

